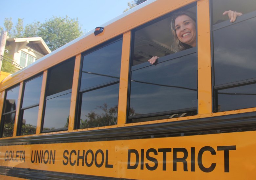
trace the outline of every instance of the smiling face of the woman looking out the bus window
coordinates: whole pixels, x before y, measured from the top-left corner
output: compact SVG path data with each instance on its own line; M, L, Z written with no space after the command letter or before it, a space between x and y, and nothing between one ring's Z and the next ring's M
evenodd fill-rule
M197 45L196 23L187 15L178 16L174 22L178 39L192 47Z

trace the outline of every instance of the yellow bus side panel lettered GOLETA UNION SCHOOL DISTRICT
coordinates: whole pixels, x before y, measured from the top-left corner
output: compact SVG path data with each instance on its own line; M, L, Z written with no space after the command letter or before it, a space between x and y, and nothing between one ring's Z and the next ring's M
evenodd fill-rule
M0 147L0 166L128 179L254 179L255 131ZM245 141L245 139L247 139Z

